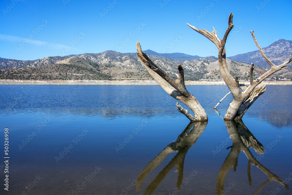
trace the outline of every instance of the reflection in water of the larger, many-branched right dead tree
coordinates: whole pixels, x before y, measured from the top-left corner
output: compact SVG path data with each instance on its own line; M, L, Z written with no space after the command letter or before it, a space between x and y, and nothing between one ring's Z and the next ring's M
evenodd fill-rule
M223 194L225 177L228 171L230 170L230 168L233 167L233 171L234 172L236 171L237 160L238 160L240 151L243 151L246 157L248 158L247 175L248 175L249 185L251 185L252 183L251 165L255 165L269 177L266 182L264 182L258 187L258 190L256 191L255 194L257 194L263 186L265 186L267 183L271 181L279 182L280 184L284 185L286 189L288 190L288 185L284 183L281 180L281 178L279 178L277 175L270 172L270 170L268 170L263 165L261 165L256 160L256 158L253 157L251 151L248 148L253 148L255 149L256 153L263 154L264 147L253 136L253 134L247 129L247 127L244 125L242 120L236 120L236 121L225 120L225 125L229 132L230 138L232 139L232 147L223 165L221 166L221 169L217 177L217 184L216 184L217 194Z

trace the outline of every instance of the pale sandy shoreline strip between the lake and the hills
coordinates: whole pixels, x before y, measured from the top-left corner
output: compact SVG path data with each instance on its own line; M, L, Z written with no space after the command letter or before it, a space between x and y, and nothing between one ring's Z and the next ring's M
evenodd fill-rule
M249 85L249 81L239 81ZM292 85L292 81L263 81L266 85ZM0 80L0 85L159 85L155 80ZM185 85L226 85L224 81L185 81Z

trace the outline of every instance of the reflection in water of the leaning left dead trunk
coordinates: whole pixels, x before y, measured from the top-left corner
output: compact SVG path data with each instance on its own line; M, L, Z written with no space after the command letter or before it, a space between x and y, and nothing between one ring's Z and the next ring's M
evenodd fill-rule
M185 128L185 130L178 136L175 142L169 144L165 149L163 149L142 171L137 179L137 191L140 190L142 181L154 168L156 168L164 159L171 153L178 153L173 157L173 159L166 165L166 167L159 172L157 177L151 182L147 187L144 194L152 194L157 188L159 183L164 179L169 171L176 167L175 172L178 172L178 182L177 189L180 190L180 186L183 182L183 165L185 161L185 155L188 149L194 145L197 139L201 136L202 132L207 126L206 121L201 122L190 122L190 124Z

